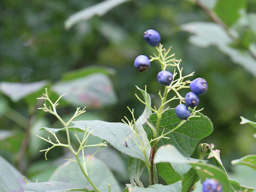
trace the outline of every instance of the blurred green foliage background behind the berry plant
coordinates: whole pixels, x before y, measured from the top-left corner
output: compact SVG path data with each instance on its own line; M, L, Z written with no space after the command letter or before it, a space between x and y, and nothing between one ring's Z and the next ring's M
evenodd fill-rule
M207 93L200 97L199 107L204 107L203 113L213 122L214 131L202 142L214 143L215 149L220 149L223 164L230 172L234 170L231 160L256 153L256 142L252 137L255 131L250 125L239 125L240 116L255 121L256 59L252 57L256 55L253 48L256 42L255 1L237 1L243 5L234 10L238 14L234 21L219 15L227 21L228 28L236 37L226 45L231 47L229 50L218 44L218 39L220 43L225 39L222 40L218 33L207 31L203 23L193 28L193 23L199 21L215 24L192 0L129 1L102 17L96 15L65 29L65 21L71 14L100 2L0 2L0 156L27 177L47 180L54 169L43 172L43 167L49 162L54 167L55 161L66 154L62 149L54 149L49 153L50 161L45 162L44 154L38 152L46 145L35 137L35 134L42 134L38 132L39 127L60 126L52 116L35 110L42 104L36 104L36 97L42 95L46 86L53 98L68 92L69 99L63 101L59 108L60 114L67 117L75 107L83 105L88 107L81 119L121 122L124 115L130 117L126 106L135 108L135 114L139 116L143 105L134 97L134 93L138 93L135 85L141 88L147 85L153 105L157 105L158 90L163 90L156 81L159 65L151 63L147 73L139 73L133 67L138 55L149 56L155 52L142 38L143 31L147 29L157 30L162 37L161 43L166 48L173 47L172 53L177 59L182 59L185 74L195 71L195 78L203 77L209 84ZM218 13L209 1L203 2ZM232 12L228 17L233 17ZM192 26L193 33L199 33L202 38L199 42L191 39L190 28L184 27L187 23ZM209 37L204 39L204 35ZM204 45L211 38L216 43ZM99 73L101 75L97 76ZM70 85L69 81L73 84ZM33 82L41 83L35 86L26 84L26 87L15 84ZM93 82L96 82L97 89ZM23 93L25 89L28 90ZM105 92L99 91L102 89ZM84 96L77 95L84 92ZM18 98L15 97L17 95ZM172 103L171 107L176 105ZM19 159L28 122L32 127L28 148ZM92 142L94 140L92 138ZM127 161L126 157L121 157ZM123 175L121 182L129 182Z

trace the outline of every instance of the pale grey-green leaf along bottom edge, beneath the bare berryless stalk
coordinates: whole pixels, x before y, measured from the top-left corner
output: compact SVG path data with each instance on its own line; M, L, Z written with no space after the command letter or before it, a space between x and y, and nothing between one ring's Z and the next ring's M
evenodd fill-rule
M63 191L86 191L93 192L95 190L85 187L84 185L76 185L66 182L33 182L26 185L24 192L63 192Z

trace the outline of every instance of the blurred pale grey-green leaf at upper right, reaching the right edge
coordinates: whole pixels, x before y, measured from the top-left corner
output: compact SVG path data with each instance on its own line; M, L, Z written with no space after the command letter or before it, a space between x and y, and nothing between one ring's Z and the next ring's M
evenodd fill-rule
M189 37L190 43L201 47L215 45L221 52L229 55L231 60L256 76L256 61L247 51L239 51L229 46L233 42L232 39L217 24L192 22L181 25L181 28L182 30L195 34Z

